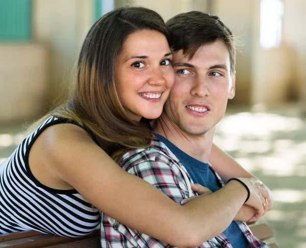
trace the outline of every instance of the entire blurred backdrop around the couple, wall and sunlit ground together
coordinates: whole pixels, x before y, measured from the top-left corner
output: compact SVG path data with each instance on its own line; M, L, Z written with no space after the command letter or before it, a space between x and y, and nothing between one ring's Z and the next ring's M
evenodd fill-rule
M273 191L266 218L280 246L306 247L305 0L0 0L0 162L21 125L65 98L91 25L135 4L165 20L199 10L239 41L236 96L214 142Z

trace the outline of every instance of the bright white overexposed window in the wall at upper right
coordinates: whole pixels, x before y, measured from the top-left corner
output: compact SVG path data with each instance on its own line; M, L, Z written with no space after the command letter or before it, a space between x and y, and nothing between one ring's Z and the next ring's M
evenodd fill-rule
M261 0L260 44L262 47L271 49L281 45L283 15L282 0Z

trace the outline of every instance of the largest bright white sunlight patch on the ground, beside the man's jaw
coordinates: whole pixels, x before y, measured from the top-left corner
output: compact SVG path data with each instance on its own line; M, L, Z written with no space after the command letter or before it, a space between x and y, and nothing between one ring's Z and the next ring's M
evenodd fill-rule
M303 121L298 118L269 113L239 113L224 117L218 124L217 129L225 135L253 135L267 139L272 132L290 132L302 127Z

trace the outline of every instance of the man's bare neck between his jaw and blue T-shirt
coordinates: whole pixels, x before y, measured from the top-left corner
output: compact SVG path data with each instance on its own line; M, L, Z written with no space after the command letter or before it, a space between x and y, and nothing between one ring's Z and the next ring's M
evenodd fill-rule
M215 128L204 134L190 134L162 115L155 123L153 132L164 136L168 141L187 153L189 156L207 163L209 160Z

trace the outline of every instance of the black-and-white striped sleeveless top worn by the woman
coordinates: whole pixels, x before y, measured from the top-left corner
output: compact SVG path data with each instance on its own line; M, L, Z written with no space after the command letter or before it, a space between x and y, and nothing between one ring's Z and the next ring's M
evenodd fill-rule
M99 210L77 190L49 188L31 173L29 153L33 143L43 130L59 123L71 121L49 117L0 164L0 234L36 230L80 237L99 224Z

